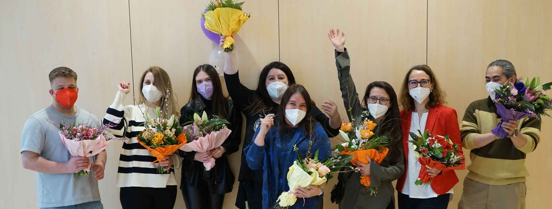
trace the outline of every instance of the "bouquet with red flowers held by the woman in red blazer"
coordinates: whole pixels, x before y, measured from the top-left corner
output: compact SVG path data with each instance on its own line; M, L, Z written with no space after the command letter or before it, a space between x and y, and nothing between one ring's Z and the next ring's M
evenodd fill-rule
M410 132L412 139L408 141L411 146L416 147L414 154L418 157L418 162L422 164L416 185L429 185L433 177L427 173L427 168L439 170L464 170L466 168L464 154L460 152L458 144L452 142L448 135L445 137L429 134L426 130L423 134L418 130L416 133ZM423 166L425 165L425 166Z

